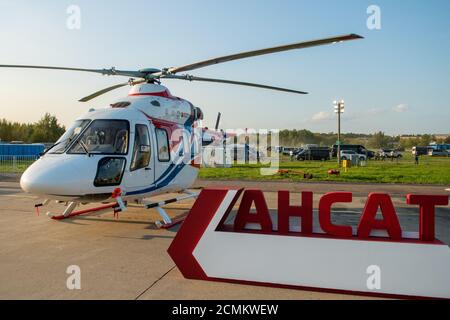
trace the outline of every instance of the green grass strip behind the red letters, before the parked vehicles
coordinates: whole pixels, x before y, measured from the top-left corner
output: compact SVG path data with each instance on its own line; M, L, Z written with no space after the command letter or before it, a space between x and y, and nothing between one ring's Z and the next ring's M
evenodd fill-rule
M450 185L450 157L420 157L419 165L414 164L410 154L404 154L402 160L370 160L365 167L340 170L340 176L329 176L328 170L338 169L336 161L290 161L283 158L281 173L273 176L260 174L261 165L235 165L231 168L202 168L200 178L215 180L286 180L306 181L302 173L312 174L311 181L342 181L370 183L409 183ZM288 170L288 172L283 172Z

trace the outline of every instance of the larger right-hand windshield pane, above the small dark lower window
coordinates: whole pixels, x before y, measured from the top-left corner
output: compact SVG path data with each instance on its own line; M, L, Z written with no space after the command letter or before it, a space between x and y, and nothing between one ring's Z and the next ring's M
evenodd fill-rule
M73 144L69 153L128 153L129 123L126 120L94 120Z

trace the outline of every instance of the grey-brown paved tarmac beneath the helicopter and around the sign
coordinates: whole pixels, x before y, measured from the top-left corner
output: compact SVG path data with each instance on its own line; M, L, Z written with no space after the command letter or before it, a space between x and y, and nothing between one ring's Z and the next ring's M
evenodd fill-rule
M390 185L292 184L198 181L196 187L238 185L265 190L270 209L276 208L273 190L316 192L355 191L352 204L339 207L337 221L357 223L369 191L394 194L402 226L417 231L417 209L407 207L403 194L443 193L442 187ZM448 192L447 192L448 193ZM295 196L295 195L294 195ZM24 194L14 179L0 180L0 299L367 299L366 297L292 289L186 280L166 250L176 230L157 229L155 210L131 207L115 219L112 213L54 221L36 199ZM187 213L193 201L171 204L172 217ZM60 212L61 205L50 209ZM450 209L437 210L437 236L450 243ZM69 290L66 270L81 269L81 290Z

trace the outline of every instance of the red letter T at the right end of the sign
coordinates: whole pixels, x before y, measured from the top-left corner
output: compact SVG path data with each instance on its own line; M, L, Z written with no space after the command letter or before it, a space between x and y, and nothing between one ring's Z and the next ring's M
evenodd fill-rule
M434 241L434 207L447 206L448 196L425 196L408 194L407 204L420 207L419 234L422 241Z

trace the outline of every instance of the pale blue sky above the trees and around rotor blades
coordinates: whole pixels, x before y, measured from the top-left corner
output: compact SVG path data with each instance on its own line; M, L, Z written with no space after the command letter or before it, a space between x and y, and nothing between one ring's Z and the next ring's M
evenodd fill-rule
M81 29L66 27L67 7ZM366 25L369 5L381 30ZM307 96L167 80L174 95L226 128L336 131L332 101L345 99L345 132L450 133L450 1L447 0L0 0L0 64L122 69L170 67L245 50L333 35L364 40L212 66L198 76L257 82ZM45 112L68 125L90 107L80 97L124 78L58 71L0 70L0 118L32 122Z

